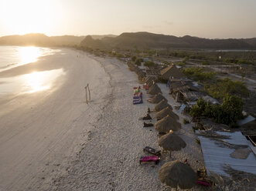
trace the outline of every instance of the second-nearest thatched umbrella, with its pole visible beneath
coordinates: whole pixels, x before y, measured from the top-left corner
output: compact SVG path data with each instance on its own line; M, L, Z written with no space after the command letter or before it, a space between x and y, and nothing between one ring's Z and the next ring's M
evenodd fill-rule
M169 150L171 156L172 151L185 148L186 142L184 142L183 139L170 131L168 134L159 138L159 146L162 146L162 149L164 150Z

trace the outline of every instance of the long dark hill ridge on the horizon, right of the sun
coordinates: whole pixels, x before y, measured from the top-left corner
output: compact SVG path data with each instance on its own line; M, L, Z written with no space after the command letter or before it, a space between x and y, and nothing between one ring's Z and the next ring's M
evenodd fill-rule
M125 32L101 40L85 38L81 46L93 49L256 49L254 39L202 39L193 36L176 37L149 32Z

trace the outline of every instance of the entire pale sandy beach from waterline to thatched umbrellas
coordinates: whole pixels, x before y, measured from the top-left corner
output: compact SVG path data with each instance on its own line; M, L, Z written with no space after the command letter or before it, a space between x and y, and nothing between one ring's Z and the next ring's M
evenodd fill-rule
M66 57L56 62L67 71L58 82L60 88L20 98L22 106L0 118L4 124L0 129L2 190L171 190L159 181L163 163L187 158L195 170L204 166L193 124L183 125L181 115L179 134L186 148L172 152L172 159L168 154L162 156L157 166L139 165L145 146L160 148L155 127L143 128L143 121L138 120L148 107L154 107L146 102L145 90L145 102L132 105L132 87L139 85L137 75L117 59L65 51ZM87 83L92 89L88 105L84 102ZM166 86L159 86L175 106Z

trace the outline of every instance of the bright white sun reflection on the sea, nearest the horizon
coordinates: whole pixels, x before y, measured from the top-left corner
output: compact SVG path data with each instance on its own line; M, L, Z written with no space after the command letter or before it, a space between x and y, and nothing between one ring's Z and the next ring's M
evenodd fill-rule
M24 63L36 62L39 56L43 55L38 47L22 47L20 51L20 60Z

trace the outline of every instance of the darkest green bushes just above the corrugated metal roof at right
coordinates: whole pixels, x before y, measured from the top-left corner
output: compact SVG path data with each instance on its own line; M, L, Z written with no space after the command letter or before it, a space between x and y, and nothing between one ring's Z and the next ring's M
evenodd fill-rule
M237 126L237 120L243 119L244 100L237 95L226 95L221 105L211 105L203 99L198 99L189 114L193 118L206 116L214 122L223 123L231 128Z

